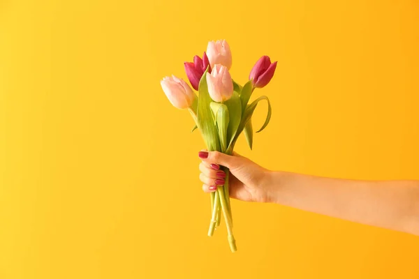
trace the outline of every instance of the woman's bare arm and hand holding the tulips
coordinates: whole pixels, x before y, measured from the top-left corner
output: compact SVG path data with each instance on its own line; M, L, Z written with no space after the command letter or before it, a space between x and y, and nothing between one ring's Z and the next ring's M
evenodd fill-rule
M214 192L230 169L230 197L269 202L419 236L419 181L357 181L277 172L234 153L201 151L200 180ZM207 156L207 158L203 158ZM218 176L217 176L218 173ZM214 188L214 186L216 186Z

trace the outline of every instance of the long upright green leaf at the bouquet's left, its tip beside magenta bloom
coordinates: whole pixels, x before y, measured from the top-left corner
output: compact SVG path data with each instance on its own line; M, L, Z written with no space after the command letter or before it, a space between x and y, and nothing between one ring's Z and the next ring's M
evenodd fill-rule
M216 126L214 125L214 121L212 119L212 111L210 108L212 99L208 93L206 78L207 71L208 69L205 70L203 77L201 77L198 87L199 98L197 109L197 125L201 134L203 135L207 149L209 151L220 151L219 135Z

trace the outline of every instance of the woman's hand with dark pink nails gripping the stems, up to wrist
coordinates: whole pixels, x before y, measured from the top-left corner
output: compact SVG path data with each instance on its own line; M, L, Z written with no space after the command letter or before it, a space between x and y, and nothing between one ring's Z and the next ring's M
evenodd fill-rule
M253 163L237 153L228 156L224 153L200 151L202 163L199 165L200 181L203 181L205 193L216 191L224 184L226 174L220 166L230 169L230 197L244 202L271 202L269 189L270 171Z

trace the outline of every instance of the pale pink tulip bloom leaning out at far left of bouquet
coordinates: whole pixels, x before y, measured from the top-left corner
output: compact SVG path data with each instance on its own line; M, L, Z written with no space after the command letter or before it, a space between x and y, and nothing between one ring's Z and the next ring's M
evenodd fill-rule
M178 109L191 107L196 95L193 93L191 86L184 80L172 75L172 77L164 77L160 83L164 93L173 106Z

